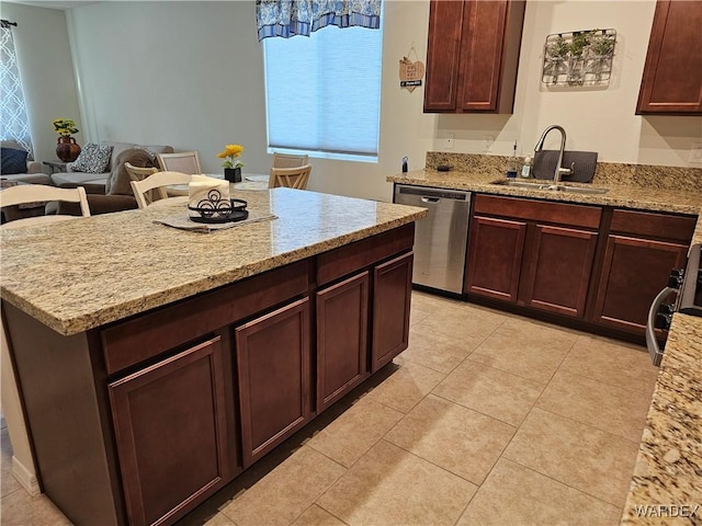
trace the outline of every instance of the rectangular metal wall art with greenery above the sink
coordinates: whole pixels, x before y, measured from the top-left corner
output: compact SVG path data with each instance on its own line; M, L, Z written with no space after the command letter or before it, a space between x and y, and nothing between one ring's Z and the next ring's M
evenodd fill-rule
M607 85L612 73L615 30L548 35L541 81L548 85Z

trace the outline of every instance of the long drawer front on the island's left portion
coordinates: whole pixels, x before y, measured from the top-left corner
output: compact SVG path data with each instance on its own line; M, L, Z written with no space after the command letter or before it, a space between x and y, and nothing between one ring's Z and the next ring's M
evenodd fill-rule
M308 288L306 260L112 325L101 331L107 374L306 294Z

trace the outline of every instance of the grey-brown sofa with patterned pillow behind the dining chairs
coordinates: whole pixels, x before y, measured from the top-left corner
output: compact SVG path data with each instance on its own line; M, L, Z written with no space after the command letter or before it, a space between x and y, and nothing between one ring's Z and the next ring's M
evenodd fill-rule
M83 186L88 193L91 215L137 208L124 163L129 162L140 168L158 167L156 153L172 153L173 148L165 145L114 141L102 141L101 145L112 147L110 162L104 172L79 172L73 170L75 163L68 163L66 172L50 175L52 184L64 188ZM70 214L72 205L72 203L60 203L57 213ZM47 213L50 211L53 210L47 210Z

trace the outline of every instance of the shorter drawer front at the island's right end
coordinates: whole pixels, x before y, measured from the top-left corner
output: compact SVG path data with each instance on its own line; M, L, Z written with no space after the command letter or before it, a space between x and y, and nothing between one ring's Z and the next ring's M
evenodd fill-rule
M317 258L317 285L321 286L395 254L411 250L415 224L325 252Z

